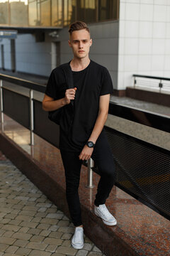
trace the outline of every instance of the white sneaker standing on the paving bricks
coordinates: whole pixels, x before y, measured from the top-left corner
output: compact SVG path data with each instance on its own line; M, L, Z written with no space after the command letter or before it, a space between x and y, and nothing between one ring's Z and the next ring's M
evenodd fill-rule
M84 229L81 227L75 228L72 238L72 247L82 249L84 247Z

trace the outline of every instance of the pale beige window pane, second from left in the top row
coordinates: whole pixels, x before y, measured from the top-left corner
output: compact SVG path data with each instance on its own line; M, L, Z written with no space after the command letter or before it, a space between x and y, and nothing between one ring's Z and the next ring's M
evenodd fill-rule
M9 0L11 25L28 26L28 0Z

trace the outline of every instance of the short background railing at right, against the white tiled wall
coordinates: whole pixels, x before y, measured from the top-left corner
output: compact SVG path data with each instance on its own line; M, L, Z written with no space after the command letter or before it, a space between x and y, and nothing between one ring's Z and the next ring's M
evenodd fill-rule
M170 78L160 78L150 75L133 75L133 77L135 88L158 90L159 92L170 92Z

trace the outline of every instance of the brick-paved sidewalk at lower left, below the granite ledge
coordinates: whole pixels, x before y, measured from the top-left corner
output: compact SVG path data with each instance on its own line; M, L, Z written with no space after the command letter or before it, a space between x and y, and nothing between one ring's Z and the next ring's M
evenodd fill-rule
M74 225L0 151L0 256L101 256L85 236L71 246Z

